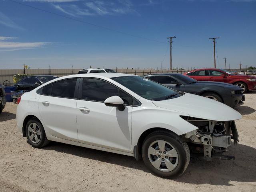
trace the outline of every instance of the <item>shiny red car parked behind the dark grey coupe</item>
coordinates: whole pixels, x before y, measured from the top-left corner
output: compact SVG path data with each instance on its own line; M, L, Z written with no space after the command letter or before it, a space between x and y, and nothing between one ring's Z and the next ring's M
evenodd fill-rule
M235 75L224 69L197 69L185 73L198 81L216 81L236 85L242 88L243 93L256 90L256 77L250 75Z

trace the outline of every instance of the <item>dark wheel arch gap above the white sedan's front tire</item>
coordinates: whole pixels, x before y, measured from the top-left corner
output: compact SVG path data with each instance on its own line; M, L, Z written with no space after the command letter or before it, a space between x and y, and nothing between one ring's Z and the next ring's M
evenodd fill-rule
M158 130L163 130L163 131L166 131L166 132L169 132L171 133L172 131L171 130L168 130L166 128L160 128L160 127L154 127L154 128L150 128L150 129L147 129L145 130L139 137L138 139L138 142L137 142L137 145L134 146L133 148L133 153L134 153L134 158L138 161L142 158L142 144L145 140L145 138L151 134L152 132L155 132L155 131L158 131ZM174 133L174 132L172 132ZM175 134L175 133L174 133Z

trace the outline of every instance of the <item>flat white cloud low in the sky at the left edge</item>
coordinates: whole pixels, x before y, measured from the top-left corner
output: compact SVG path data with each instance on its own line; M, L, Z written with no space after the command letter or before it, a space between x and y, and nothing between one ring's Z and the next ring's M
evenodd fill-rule
M6 40L15 39L14 37L4 37L0 36L0 51L15 51L22 49L33 49L40 48L47 44L52 44L50 42L9 42Z

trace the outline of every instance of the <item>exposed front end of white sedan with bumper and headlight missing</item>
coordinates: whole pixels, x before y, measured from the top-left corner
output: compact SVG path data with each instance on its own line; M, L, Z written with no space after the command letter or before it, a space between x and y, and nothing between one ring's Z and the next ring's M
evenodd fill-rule
M234 156L223 156L223 152L226 152L231 145L231 140L234 140L235 145L239 142L234 121L219 122L188 116L181 116L181 118L198 128L184 134L184 137L197 152L203 151L206 160L234 159Z

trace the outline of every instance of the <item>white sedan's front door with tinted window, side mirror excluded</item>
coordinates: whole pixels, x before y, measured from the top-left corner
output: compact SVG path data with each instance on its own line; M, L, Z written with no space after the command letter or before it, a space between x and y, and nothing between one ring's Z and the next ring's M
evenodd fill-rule
M104 100L111 96L120 96L124 100L123 111L104 104ZM132 97L104 80L83 78L78 98L78 142L130 152Z

